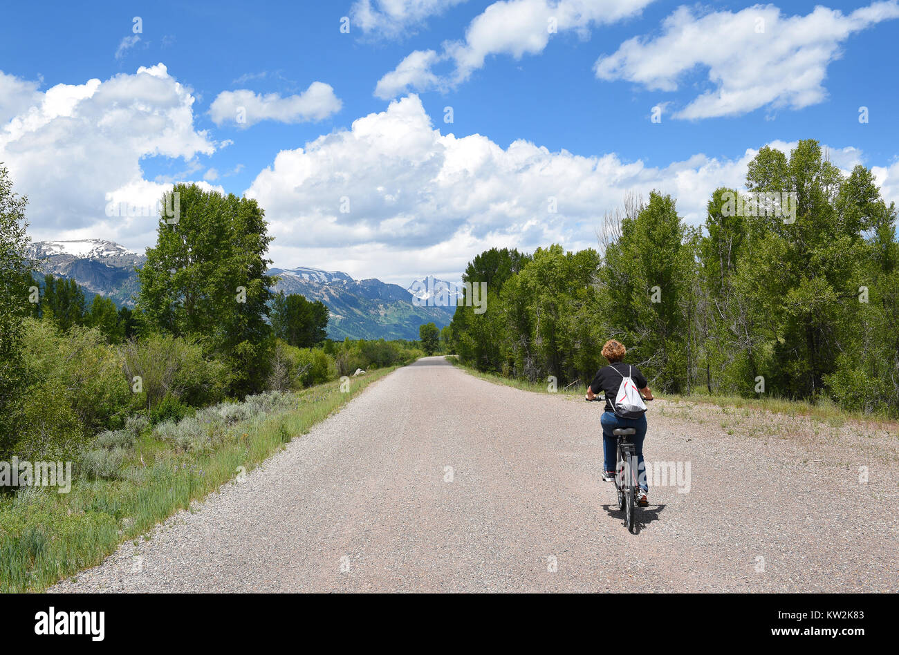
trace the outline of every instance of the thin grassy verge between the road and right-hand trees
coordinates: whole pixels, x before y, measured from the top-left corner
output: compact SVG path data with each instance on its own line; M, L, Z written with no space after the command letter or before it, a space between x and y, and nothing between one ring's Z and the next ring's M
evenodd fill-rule
M534 383L528 382L527 380L516 380L504 377L495 373L484 373L478 371L476 368L461 364L455 356L448 356L447 359L455 366L465 370L473 376L480 377L482 380L494 382L499 385L514 386L516 389L531 391L538 394L549 393L547 391L548 382L546 384ZM574 385L568 390L560 387L556 391L556 394L581 396L584 394L585 387L586 383ZM871 416L870 414L861 412L847 412L842 410L839 405L832 403L829 400L822 403L807 403L804 401L793 401L772 396L763 398L743 398L742 396L736 395L710 394L655 394L655 396L668 401L669 403L684 403L687 405L690 403L705 403L717 405L725 414L735 413L741 410L743 412L771 412L775 414L784 414L790 417L803 416L808 419L826 423L834 428L839 428L844 425L847 420L852 420L863 423L869 428L886 429L894 434L899 431L899 423L896 423L895 420L888 420L883 417ZM748 413L743 413L743 416L747 415Z

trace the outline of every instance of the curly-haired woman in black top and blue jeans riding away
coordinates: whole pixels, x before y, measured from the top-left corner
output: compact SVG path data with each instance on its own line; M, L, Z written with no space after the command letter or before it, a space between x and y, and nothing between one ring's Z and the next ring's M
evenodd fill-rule
M649 487L646 485L645 465L643 462L646 417L645 414L640 414L634 418L623 418L615 413L615 406L611 400L618 394L621 380L625 377L631 377L634 380L637 388L640 390L640 394L646 400L653 399L653 392L649 390L649 385L640 369L622 361L627 351L624 344L620 341L615 341L614 339L606 341L602 347L602 357L609 360L609 366L602 367L596 372L592 383L587 387L587 400L593 400L601 392L606 394L606 411L602 412L600 419L602 424L602 452L605 459L605 470L602 474L602 479L606 482L612 482L615 479L616 437L612 434L612 430L617 428L636 429L636 433L631 438L636 451L636 465L640 483L640 491L637 493L636 502L645 507L648 504L646 493L649 491Z

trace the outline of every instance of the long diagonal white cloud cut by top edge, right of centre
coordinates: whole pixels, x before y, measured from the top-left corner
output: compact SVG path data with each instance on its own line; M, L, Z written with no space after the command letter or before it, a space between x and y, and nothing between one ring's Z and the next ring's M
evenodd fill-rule
M467 81L491 55L539 54L554 33L574 31L583 37L594 25L618 22L640 13L653 0L500 0L469 23L464 40L448 41L440 53L415 50L376 87L379 98L414 91L443 90ZM448 75L432 66L450 62Z

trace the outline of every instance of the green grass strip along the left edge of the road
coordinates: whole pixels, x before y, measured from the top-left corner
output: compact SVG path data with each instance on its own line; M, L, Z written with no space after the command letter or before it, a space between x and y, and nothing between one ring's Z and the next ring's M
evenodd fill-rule
M396 367L309 387L295 407L236 424L232 439L209 452L179 450L149 430L127 460L120 479L77 478L72 490L26 488L0 499L0 591L43 591L95 566L127 541L146 533L191 502L249 472ZM142 458L142 462L140 461Z

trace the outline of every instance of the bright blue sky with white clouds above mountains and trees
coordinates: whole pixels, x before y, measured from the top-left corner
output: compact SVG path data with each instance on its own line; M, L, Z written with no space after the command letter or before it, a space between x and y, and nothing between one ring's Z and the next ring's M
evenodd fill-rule
M899 200L897 36L897 0L16 3L0 162L34 240L143 252L196 182L259 201L274 266L459 279L597 247L628 193L701 225L803 138Z

